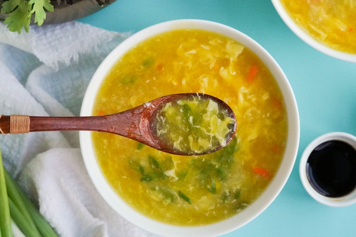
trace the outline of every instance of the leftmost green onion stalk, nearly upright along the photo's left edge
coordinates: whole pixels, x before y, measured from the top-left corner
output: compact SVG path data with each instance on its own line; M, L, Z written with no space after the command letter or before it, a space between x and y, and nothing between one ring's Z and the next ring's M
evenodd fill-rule
M12 237L9 199L7 198L4 166L0 151L0 231L2 237Z

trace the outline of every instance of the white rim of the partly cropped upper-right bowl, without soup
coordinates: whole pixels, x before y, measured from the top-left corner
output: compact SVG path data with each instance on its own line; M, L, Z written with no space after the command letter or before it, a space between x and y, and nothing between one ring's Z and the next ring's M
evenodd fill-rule
M326 55L332 56L337 59L345 60L345 61L350 61L356 63L356 54L350 54L350 53L345 53L341 52L335 49L332 49L324 44L321 44L320 42L316 41L313 37L311 37L308 33L303 31L302 28L300 28L293 20L290 18L290 15L286 11L286 9L283 7L281 0L271 0L274 8L278 12L279 16L282 18L284 23L291 29L294 34L296 34L300 39L302 39L305 43L309 44L311 47L313 47L316 50L319 50L321 53L324 53Z

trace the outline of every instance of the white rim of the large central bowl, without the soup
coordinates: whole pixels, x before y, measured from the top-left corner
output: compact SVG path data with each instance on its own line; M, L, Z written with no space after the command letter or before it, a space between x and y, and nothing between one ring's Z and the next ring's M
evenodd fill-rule
M204 29L217 32L229 36L241 44L244 44L266 64L282 91L288 114L288 138L286 151L276 176L273 178L260 198L258 198L254 203L248 206L245 210L241 211L239 214L218 223L192 227L169 225L143 216L131 208L131 206L129 206L123 199L121 199L121 197L114 191L114 189L111 188L110 184L106 181L103 173L101 172L101 168L99 167L98 161L95 157L93 142L91 140L91 133L89 131L80 131L80 147L88 174L96 189L98 189L101 196L103 196L106 202L116 212L118 212L122 217L131 223L146 231L155 233L160 236L219 236L245 225L247 222L258 216L263 210L267 208L269 204L272 203L272 201L276 198L286 183L297 156L299 144L299 114L297 103L295 101L292 88L290 87L290 84L282 69L272 58L272 56L261 47L261 45L234 28L204 20L175 20L148 27L140 32L137 32L136 34L133 34L130 38L126 39L124 42L118 45L105 58L103 63L101 63L89 83L84 96L80 115L92 115L94 100L96 94L98 93L101 82L104 80L109 70L117 62L117 60L120 59L128 50L130 50L132 47L135 47L136 44L151 38L156 34L185 28Z

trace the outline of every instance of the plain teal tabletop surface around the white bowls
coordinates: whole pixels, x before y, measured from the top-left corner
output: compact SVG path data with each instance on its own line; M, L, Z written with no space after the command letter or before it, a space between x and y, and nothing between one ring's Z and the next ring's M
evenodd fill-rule
M333 131L356 135L356 63L305 44L269 0L116 0L79 21L110 31L137 32L182 18L223 23L255 39L287 75L299 108L299 151L287 184L261 215L224 237L356 236L356 204L333 208L316 202L303 188L298 171L303 150L319 135Z

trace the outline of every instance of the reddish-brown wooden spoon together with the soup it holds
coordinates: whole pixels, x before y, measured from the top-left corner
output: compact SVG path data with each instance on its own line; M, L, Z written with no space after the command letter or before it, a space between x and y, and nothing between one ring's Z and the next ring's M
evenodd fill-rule
M201 93L163 96L115 114L89 117L2 115L2 134L82 130L121 135L175 155L204 155L226 146L236 118L222 100Z

